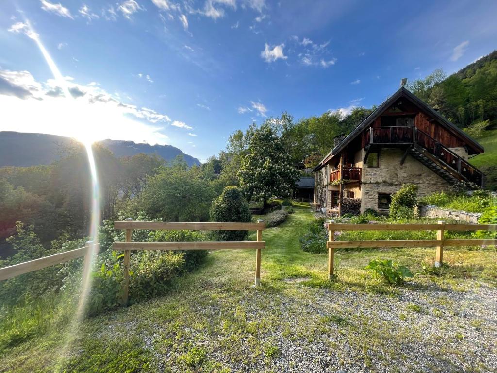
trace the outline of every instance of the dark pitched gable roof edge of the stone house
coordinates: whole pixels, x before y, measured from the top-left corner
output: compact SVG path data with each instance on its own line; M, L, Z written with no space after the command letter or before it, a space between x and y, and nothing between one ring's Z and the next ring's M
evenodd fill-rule
M397 101L401 97L407 97L411 100L419 109L426 111L429 115L433 116L437 121L440 122L443 126L445 126L449 131L451 131L454 135L461 138L468 147L472 148L474 153L480 154L484 152L483 146L481 146L476 140L474 140L471 136L469 136L466 132L461 130L459 127L455 126L447 119L445 119L442 115L440 115L437 111L433 110L427 103L422 101L420 98L415 96L413 93L409 92L404 87L399 88L396 93L392 94L388 99L386 99L380 106L376 108L366 119L364 119L357 127L354 128L352 132L348 134L337 146L335 146L330 153L328 153L325 158L316 166L312 172L316 172L320 170L324 165L328 163L328 161L338 155L353 139L355 139L358 135L362 133L371 123L378 118L385 110L387 110L390 106L392 106L395 101Z

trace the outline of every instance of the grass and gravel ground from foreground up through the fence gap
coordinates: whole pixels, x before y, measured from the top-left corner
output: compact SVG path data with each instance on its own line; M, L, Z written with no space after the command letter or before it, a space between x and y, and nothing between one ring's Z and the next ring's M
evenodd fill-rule
M294 209L263 232L260 287L254 251L214 252L164 297L73 330L54 313L46 334L0 353L0 372L490 372L493 356L479 349L497 336L495 249L446 250L442 276L429 270L434 248L337 251L330 282L327 255L300 249L311 209ZM414 280L372 279L364 266L377 257L407 265Z

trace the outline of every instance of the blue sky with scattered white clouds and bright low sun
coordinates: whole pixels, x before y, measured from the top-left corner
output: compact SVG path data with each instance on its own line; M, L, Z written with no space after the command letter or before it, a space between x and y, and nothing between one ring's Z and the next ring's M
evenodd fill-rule
M496 1L379 4L3 0L0 130L171 144L205 160L252 120L379 104L401 78L496 48Z

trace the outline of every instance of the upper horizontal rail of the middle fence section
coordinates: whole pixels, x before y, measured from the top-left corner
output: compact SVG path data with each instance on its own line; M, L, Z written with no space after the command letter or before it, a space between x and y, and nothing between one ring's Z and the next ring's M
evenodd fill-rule
M266 229L265 223L190 223L162 221L115 221L114 229L154 230L234 230L257 231Z

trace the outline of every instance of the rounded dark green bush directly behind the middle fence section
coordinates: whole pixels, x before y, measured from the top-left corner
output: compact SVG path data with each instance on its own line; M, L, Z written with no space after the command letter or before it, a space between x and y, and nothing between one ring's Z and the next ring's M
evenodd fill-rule
M223 193L212 201L210 209L212 222L249 223L252 214L247 200L238 187L225 187ZM211 231L211 239L215 241L243 241L248 231Z

